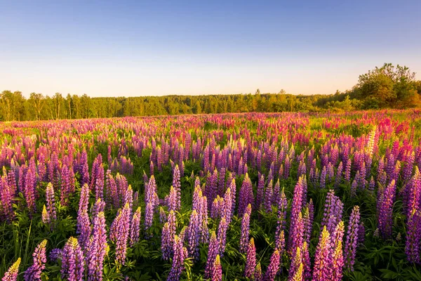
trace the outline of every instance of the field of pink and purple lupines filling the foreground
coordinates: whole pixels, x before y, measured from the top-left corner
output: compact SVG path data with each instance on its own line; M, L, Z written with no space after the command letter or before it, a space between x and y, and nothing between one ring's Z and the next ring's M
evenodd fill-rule
M0 124L3 280L421 280L421 112Z

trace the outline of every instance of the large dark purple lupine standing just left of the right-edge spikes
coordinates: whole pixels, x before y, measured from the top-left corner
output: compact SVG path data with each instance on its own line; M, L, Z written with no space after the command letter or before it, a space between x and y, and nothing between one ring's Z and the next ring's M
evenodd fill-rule
M393 204L396 194L395 181L392 180L387 188L382 192L379 192L379 199L377 200L377 211L378 211L378 226L382 237L392 237L392 212Z

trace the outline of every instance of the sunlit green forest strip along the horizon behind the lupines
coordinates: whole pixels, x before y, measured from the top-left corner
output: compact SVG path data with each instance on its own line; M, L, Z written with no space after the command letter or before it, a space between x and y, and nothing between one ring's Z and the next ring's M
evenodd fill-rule
M345 92L328 95L255 93L203 96L91 98L87 94L44 96L20 91L0 93L0 121L86 119L125 116L184 115L224 112L343 112L421 105L421 81L406 66L385 63L359 76Z

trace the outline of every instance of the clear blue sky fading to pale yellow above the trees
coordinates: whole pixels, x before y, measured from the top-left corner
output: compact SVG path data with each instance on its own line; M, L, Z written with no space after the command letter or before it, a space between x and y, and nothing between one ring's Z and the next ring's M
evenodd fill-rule
M0 0L0 91L335 93L383 63L421 79L421 1Z

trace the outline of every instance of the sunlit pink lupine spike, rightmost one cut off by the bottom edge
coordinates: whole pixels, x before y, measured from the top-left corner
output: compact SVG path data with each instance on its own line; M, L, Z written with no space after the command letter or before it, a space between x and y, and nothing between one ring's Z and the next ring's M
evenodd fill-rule
M342 280L342 270L344 267L344 256L342 252L342 239L344 236L344 222L340 221L332 235L332 280Z

